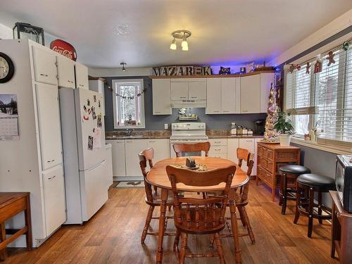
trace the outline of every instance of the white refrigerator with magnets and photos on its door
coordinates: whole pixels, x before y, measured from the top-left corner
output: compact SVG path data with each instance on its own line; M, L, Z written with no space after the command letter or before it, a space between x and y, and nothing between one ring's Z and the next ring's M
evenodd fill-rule
M67 221L81 224L108 200L103 96L60 88Z

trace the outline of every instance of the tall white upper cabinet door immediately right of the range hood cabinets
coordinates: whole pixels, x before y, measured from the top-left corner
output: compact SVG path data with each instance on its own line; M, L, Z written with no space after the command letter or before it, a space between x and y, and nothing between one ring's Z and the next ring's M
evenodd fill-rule
M206 80L206 114L221 112L221 78Z

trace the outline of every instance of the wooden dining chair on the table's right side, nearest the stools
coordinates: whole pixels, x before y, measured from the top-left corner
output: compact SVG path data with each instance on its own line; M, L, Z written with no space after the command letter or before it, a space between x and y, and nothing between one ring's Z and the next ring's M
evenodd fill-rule
M250 153L247 149L241 149L237 148L237 158L239 159L239 168L241 168L243 161L246 162L247 165L247 172L246 174L248 177L251 177L253 165L254 165L254 154ZM236 201L236 206L239 210L239 216L242 222L242 225L244 225L247 228L247 233L245 234L239 234L239 237L244 237L244 236L249 236L252 244L256 243L256 239L254 237L254 233L251 227L251 223L249 222L249 217L246 212L246 205L248 204L248 193L249 193L249 182L244 185L244 187L241 187L239 191L236 192L235 194L235 201ZM229 204L227 206L230 206ZM230 218L227 218L227 220L230 220ZM230 225L227 225L230 226ZM233 237L232 230L228 228L229 233L228 234L221 234L221 237Z

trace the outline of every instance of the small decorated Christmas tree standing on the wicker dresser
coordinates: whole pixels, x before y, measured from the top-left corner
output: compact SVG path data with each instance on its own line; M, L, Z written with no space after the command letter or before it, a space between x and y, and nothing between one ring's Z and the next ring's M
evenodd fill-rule
M277 142L277 132L274 128L274 124L278 118L279 106L277 106L276 95L277 91L271 84L268 116L265 120L264 140L266 142Z

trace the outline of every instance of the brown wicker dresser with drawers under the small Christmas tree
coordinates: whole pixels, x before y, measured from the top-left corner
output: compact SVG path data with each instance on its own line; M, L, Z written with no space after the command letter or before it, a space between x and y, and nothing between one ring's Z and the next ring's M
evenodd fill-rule
M272 201L275 201L276 187L280 184L279 168L287 164L299 164L301 149L297 146L280 146L258 142L256 182L263 180L272 189ZM289 182L288 185L294 184Z

